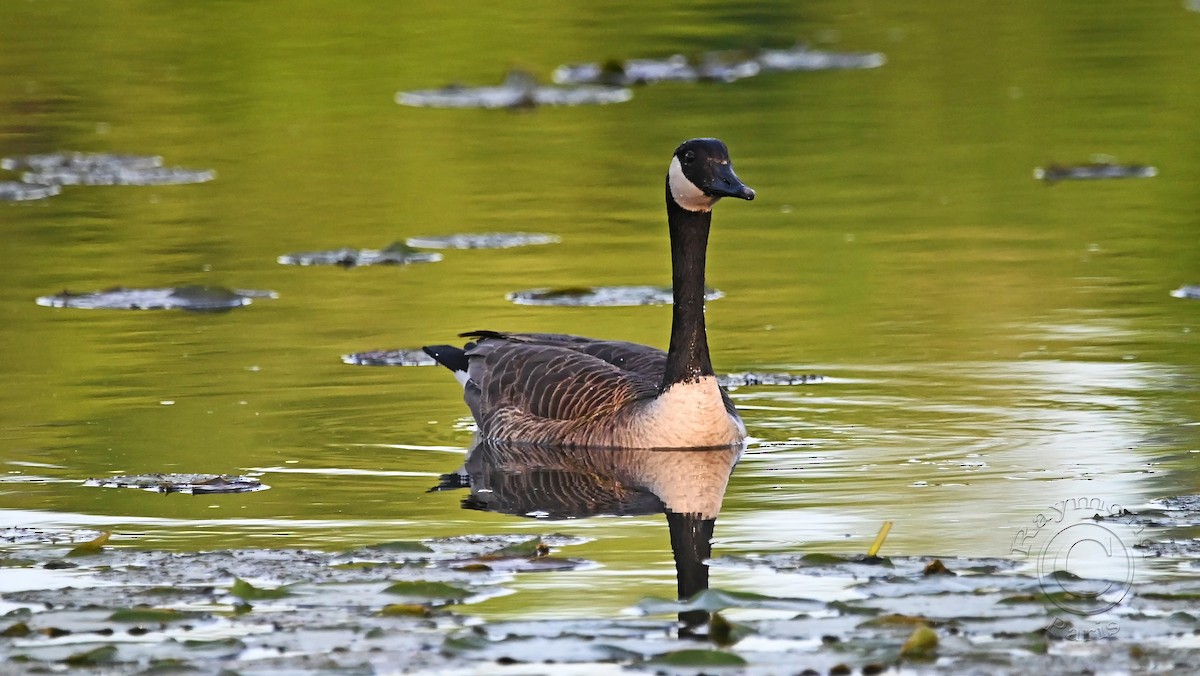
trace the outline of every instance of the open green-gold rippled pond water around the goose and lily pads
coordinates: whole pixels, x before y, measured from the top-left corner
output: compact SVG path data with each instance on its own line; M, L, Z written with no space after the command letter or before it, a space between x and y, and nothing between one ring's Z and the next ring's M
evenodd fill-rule
M635 88L623 103L406 108L510 68L791 47L877 68ZM558 532L594 567L472 611L617 616L674 590L661 516L546 522L427 492L470 443L433 367L341 355L506 329L665 346L670 307L545 307L538 288L670 283L662 180L695 136L752 203L714 216L718 371L754 437L714 555L1013 556L1039 514L1200 492L1200 13L1182 2L0 5L0 155L160 155L198 185L0 202L0 526L167 551L338 550ZM1048 184L1111 161L1156 175ZM16 180L5 172L0 180ZM421 265L280 265L410 237L533 232ZM112 287L271 289L229 312L89 311ZM156 495L115 474L253 475ZM1140 562L1140 582L1186 570ZM836 596L718 567L714 585ZM587 603L580 598L587 594Z

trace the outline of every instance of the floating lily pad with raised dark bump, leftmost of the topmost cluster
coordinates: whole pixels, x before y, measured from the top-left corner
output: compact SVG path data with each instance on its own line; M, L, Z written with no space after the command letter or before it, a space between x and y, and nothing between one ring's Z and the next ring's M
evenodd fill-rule
M587 106L623 103L634 92L623 86L545 86L520 71L508 74L498 86L449 85L442 89L401 91L396 103L419 108L532 108L535 106Z

